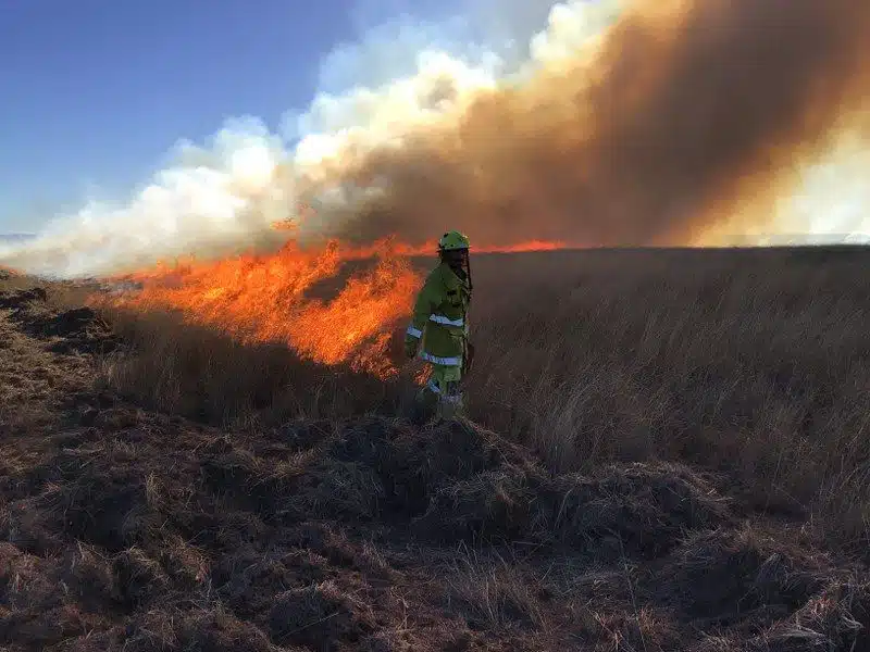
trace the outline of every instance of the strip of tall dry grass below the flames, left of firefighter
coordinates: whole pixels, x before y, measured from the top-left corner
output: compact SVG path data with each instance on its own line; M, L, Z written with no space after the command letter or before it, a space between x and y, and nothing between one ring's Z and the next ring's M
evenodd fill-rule
M134 354L105 358L102 381L150 409L257 428L359 414L390 398L376 378L324 368L281 344L241 344L170 313L103 314Z

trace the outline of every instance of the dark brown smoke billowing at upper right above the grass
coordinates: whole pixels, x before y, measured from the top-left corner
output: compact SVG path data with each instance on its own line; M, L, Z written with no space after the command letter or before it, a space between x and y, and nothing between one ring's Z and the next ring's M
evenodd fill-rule
M823 152L870 98L862 60L868 0L635 3L592 68L482 96L460 124L369 156L355 177L389 191L345 236L686 242Z

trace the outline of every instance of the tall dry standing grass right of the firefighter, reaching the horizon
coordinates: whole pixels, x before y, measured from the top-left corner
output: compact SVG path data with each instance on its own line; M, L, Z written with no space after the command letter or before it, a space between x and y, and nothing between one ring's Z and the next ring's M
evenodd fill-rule
M561 253L482 267L476 418L554 469L688 460L866 540L870 253ZM489 269L505 288L495 300Z

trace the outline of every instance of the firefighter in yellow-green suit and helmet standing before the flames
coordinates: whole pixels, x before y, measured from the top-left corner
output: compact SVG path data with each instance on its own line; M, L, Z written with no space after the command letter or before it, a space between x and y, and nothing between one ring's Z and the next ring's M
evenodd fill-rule
M460 381L471 366L468 310L471 302L469 239L451 230L438 240L438 265L417 297L413 318L405 335L408 358L418 354L432 365L421 391L426 408L450 418L463 408Z

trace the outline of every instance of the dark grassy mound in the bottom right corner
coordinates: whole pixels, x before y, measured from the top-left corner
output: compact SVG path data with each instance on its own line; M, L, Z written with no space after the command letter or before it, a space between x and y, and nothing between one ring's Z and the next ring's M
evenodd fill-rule
M734 649L870 649L866 572L787 537L750 527L699 532L660 575L668 580L650 577L649 594L693 627L731 630Z

